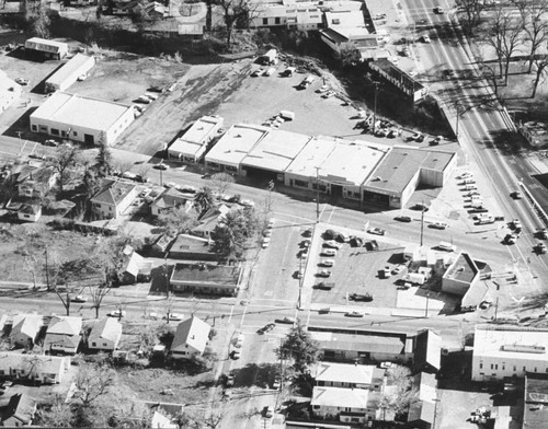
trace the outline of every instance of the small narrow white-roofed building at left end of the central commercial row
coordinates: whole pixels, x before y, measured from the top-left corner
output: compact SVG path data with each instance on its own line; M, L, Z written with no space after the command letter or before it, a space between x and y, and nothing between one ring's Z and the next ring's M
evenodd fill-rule
M204 156L207 144L218 136L222 123L219 117L199 118L169 147L169 158L191 164L198 162Z

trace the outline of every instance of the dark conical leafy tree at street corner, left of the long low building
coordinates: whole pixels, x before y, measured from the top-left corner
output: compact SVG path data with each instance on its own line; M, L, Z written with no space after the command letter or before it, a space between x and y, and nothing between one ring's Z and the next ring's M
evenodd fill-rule
M318 360L318 344L310 337L305 325L297 321L276 350L281 359L292 359L297 372L305 373Z

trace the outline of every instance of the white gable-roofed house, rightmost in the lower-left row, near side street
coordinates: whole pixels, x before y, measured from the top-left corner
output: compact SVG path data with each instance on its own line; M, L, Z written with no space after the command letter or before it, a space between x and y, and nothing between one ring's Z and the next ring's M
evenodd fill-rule
M173 359L190 360L202 356L209 341L210 331L209 324L195 316L181 322L171 344Z

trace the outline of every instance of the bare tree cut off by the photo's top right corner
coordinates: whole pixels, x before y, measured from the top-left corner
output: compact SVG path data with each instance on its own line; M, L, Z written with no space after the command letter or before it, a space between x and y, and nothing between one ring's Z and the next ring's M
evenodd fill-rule
M529 67L533 70L538 48L548 42L548 3L546 1L512 0L522 16L524 39L529 43Z

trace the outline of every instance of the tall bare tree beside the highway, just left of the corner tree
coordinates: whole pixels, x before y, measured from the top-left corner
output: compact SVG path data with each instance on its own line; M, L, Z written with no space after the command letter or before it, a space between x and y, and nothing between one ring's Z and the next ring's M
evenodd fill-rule
M522 32L521 18L515 18L511 10L503 7L495 8L486 40L494 48L500 74L504 76L504 84L509 83L510 62L512 56L520 50Z

